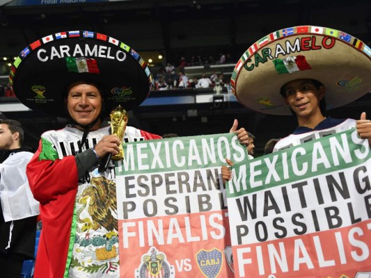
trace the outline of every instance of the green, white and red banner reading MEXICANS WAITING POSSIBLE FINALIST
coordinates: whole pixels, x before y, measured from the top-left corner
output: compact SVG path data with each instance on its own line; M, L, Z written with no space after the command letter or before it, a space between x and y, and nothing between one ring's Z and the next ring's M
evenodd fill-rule
M355 129L232 166L236 277L371 277L370 173Z

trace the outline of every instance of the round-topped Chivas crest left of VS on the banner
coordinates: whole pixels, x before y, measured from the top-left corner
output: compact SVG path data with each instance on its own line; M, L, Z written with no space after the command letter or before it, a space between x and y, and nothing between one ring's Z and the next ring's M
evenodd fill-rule
M173 265L166 261L166 255L151 247L142 256L141 265L136 269L136 278L175 278Z

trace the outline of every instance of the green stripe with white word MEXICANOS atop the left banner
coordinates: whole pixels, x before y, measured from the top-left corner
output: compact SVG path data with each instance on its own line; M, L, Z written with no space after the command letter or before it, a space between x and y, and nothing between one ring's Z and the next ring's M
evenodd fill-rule
M198 170L205 165L220 167L226 158L235 163L247 159L246 147L235 133L129 142L123 149L125 158L115 161L118 176Z

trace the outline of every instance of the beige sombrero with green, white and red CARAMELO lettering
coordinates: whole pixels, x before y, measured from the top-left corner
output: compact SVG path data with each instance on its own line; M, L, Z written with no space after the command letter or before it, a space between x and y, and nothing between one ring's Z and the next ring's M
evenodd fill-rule
M316 79L326 88L328 109L371 90L371 49L345 32L321 26L295 26L266 35L248 47L230 81L247 108L291 115L280 90L295 79Z

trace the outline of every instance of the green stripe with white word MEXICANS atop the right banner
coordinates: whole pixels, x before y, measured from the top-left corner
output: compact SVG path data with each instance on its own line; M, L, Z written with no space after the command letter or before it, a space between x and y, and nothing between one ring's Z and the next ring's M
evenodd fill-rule
M349 129L299 146L242 161L232 166L232 181L227 182L227 196L296 183L320 174L354 167L371 159L368 140L358 138Z

